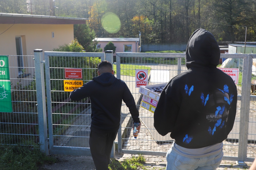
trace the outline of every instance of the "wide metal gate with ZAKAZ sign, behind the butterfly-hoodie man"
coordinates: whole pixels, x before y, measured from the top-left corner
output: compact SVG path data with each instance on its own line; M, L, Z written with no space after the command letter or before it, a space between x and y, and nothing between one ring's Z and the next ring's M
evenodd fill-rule
M252 58L255 57L255 54L221 54L220 61L230 60L230 63L226 61L229 63L227 67L238 68L239 70L237 115L228 139L223 142L224 160L253 161L256 157L256 112L255 107L253 107L254 103L250 102L250 100L255 100L255 96L250 95ZM126 74L127 72L136 69L148 70L148 84L153 85L166 83L177 74L187 70L185 54L182 53L116 53L116 68L117 78L126 82L138 107L140 107L142 94L139 93L139 88L135 87L135 78ZM122 111L129 112L126 106L123 106ZM140 133L141 138L140 135L137 139L133 138L132 133L130 133L131 127L127 126L131 123L131 117L129 119L125 115L123 120L126 122L122 122L122 127L118 132L118 152L165 156L172 146L173 139L170 138L169 134L163 137L156 132L152 112L140 107L139 113L142 121L141 132L144 135ZM249 135L248 130L250 130Z

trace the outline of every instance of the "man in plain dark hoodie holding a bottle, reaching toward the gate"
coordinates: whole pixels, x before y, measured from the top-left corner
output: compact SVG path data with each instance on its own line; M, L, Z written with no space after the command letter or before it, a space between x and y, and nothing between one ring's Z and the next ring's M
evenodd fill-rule
M133 122L140 123L139 112L129 88L124 81L117 79L113 72L110 62L100 62L99 76L73 90L69 96L72 100L86 97L91 99L89 145L97 170L109 170L111 149L120 127L122 100L129 108ZM140 130L140 126L136 129Z

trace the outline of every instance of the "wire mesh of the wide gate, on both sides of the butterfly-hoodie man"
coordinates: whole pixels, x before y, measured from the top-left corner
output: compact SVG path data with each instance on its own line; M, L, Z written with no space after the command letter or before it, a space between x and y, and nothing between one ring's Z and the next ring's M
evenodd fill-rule
M139 107L140 119L142 120L141 133L139 137L134 139L132 136L132 121L130 119L124 119L126 122L122 124L122 149L121 152L124 153L134 153L134 154L149 154L149 155L165 155L166 152L171 148L173 139L170 138L170 134L166 136L159 135L153 126L153 115L154 113L148 111L141 107L142 94L139 93L139 88L135 87L135 77L133 77L131 72L135 72L135 69L148 70L148 85L156 85L161 83L166 83L172 79L177 74L187 70L185 65L185 55L173 54L163 55L154 54L124 54L119 53L120 57L120 77L126 82L130 88L135 101ZM236 160L239 154L239 133L240 132L240 112L241 112L241 94L242 94L242 78L244 74L243 70L243 58L227 58L227 56L222 56L220 59L220 64L218 68L224 68L222 71L226 71L227 74L237 74L237 80L234 80L238 89L238 103L237 103L237 115L234 122L234 126L228 139L223 141L223 152L224 159L226 160ZM225 61L226 60L226 61ZM118 58L117 58L118 61ZM230 71L231 70L231 71ZM245 76L245 75L244 75ZM129 112L126 106L123 106L123 112ZM255 114L253 112L252 114ZM126 115L124 115L126 116ZM244 115L243 115L244 116ZM255 115L254 115L255 116ZM128 124L129 126L126 126ZM250 128L249 128L250 129ZM127 133L123 133L126 132ZM249 131L250 132L250 131ZM250 134L250 133L249 133ZM255 134L255 129L251 131L251 134ZM249 135L250 136L250 135ZM119 140L118 142L121 142ZM251 146L252 143L248 143L248 152L251 154L248 157L254 158L255 153ZM241 147L241 143L240 143Z

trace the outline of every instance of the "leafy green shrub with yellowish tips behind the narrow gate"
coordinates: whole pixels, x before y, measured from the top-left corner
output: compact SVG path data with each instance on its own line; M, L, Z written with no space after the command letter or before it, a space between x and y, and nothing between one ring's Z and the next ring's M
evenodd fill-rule
M83 46L74 39L70 44L65 44L54 51L63 52L82 52ZM83 80L91 80L97 75L97 66L100 62L98 57L67 57L67 56L50 56L50 79L52 79L52 101L61 102L67 99L67 93L63 91L65 79L64 68L82 68ZM74 79L75 80L75 79ZM86 83L86 82L84 82Z

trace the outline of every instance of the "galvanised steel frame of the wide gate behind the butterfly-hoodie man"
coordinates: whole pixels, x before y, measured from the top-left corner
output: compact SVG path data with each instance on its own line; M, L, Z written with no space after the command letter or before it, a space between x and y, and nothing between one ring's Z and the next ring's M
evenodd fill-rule
M121 60L120 57L163 57L163 58L177 58L177 71L181 73L182 58L185 58L184 53L116 53L116 77L121 78ZM239 126L239 142L238 143L238 157L223 156L223 160L230 161L249 161L252 162L254 158L247 158L247 144L248 144L248 129L249 129L249 112L250 112L250 100L255 101L256 96L250 95L251 86L251 72L252 72L252 58L256 58L256 54L221 54L220 58L242 58L243 59L243 74L242 74L242 89L241 94L238 95L238 100L241 100L240 110L240 126ZM242 114L244 113L244 114ZM130 154L148 154L165 156L166 153L159 152L145 152L139 150L122 150L122 122L120 122L120 128L118 131L118 152L130 153ZM241 126L242 125L242 126Z

